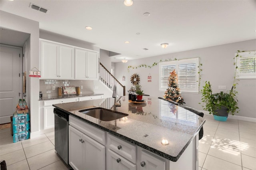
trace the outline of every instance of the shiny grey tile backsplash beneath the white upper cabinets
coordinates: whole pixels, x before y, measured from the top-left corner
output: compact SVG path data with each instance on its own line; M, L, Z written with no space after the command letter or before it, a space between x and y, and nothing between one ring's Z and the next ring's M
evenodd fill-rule
M80 90L81 94L94 93L93 81L89 80L40 80L39 91L42 91L43 97L58 96L58 87L62 86L83 86ZM55 90L52 90L55 87ZM39 94L38 94L39 95Z

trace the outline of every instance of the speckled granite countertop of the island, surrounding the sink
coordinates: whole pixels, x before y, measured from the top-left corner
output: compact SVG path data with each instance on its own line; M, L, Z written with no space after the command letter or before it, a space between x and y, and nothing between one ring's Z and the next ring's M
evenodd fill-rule
M114 107L114 100L106 98L53 106L174 162L205 123L204 118L157 97L144 96L145 103L137 104L131 103L128 96L123 96L117 100L121 107ZM126 113L128 116L101 121L79 112L93 107ZM169 144L161 144L162 139L168 140Z

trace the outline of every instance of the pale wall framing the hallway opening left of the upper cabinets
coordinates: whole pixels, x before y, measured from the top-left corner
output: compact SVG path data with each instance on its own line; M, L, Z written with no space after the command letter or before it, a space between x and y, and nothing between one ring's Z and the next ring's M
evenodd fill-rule
M39 68L39 22L3 11L0 11L0 16L1 27L30 34L30 42L27 44L27 49L29 49L27 69ZM27 76L27 86L27 99L30 103L30 131L36 132L39 130L39 78Z

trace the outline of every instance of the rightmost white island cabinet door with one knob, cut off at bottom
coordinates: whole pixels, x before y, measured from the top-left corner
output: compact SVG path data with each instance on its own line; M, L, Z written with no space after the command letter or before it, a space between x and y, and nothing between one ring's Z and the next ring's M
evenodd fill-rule
M140 170L165 170L166 161L142 150L138 166Z

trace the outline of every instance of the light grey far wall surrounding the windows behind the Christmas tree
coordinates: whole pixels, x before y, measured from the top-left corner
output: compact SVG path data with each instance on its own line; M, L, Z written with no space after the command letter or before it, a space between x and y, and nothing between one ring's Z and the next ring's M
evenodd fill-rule
M168 48L171 48L171 46ZM152 68L140 67L138 69L130 69L128 72L128 65L137 66L140 64L152 65L154 62L164 61L165 59L185 59L200 57L202 63L202 79L200 89L204 85L205 81L210 81L214 93L218 90L219 85L225 85L226 90L230 90L233 84L234 77L234 56L237 50L240 51L255 51L256 50L256 39L230 43L224 45L217 45L213 47L206 47L201 49L194 49L190 51L182 51L178 53L170 53L166 55L159 55L149 57L146 59L137 59L128 61L127 63L116 63L116 78L120 83L126 86L126 89L130 89L130 77L132 74L137 73L140 76L140 85L144 93L162 97L163 91L158 90L159 81L159 67L158 65ZM152 82L147 81L148 75L152 76ZM122 81L122 76L125 75L126 80ZM238 91L238 107L240 112L237 116L256 118L256 79L240 79L239 84L236 87ZM126 93L127 95L127 93ZM193 107L195 109L202 110L201 105L201 94L188 94L182 93L186 106Z

